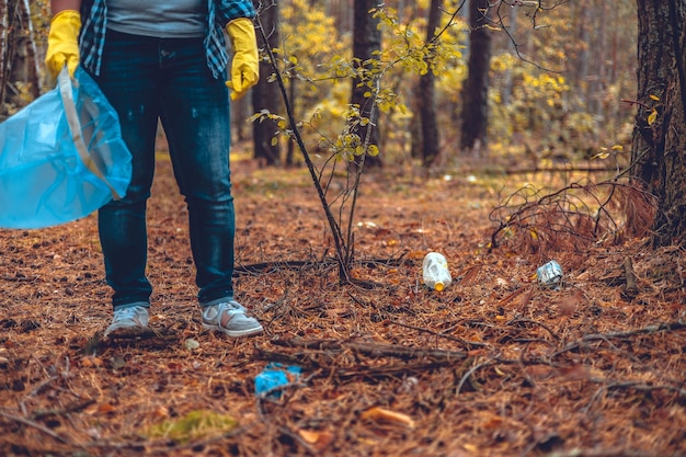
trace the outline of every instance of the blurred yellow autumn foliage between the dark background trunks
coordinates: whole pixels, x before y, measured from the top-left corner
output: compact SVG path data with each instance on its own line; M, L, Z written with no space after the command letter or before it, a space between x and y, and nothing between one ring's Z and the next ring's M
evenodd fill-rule
M22 3L31 11L30 21ZM43 68L49 19L46 3L7 2L0 116L7 117L52 89ZM436 77L441 164L455 163L460 158L462 91L471 28L469 5L461 3L443 5L437 25L447 28L431 64ZM263 11L278 14L277 33L267 24L267 34L281 53L279 60L286 62L287 68L282 67L282 71L293 76L288 90L298 119L308 121L317 114L321 121L316 127L321 134L336 137L341 129L339 119L350 103L350 73L341 67L352 61L353 2L296 0L279 4L278 10L265 8L267 4L263 4ZM545 167L551 160L588 159L613 146L621 146L626 153L636 114L630 102L637 84L634 3L582 0L548 2L542 8L537 4L502 2L490 10L489 22L478 25L488 28L492 42L485 75L490 153L523 156L531 167ZM413 121L419 110L412 99L426 69L409 61L408 55L420 54L426 42L428 11L428 1L401 1L387 5L384 18L375 22L385 34L380 41L382 59L404 60L389 67L381 82L393 98L386 102L378 119L379 147L388 163L421 157L421 151L413 151L420 139ZM268 67L266 70L265 75L272 73ZM338 81L323 83L336 71ZM266 84L267 79L262 82ZM255 107L250 98L236 104L232 128L237 141L252 136L251 124L245 119L263 110ZM266 153L264 158L270 163L293 160L283 152L281 157Z

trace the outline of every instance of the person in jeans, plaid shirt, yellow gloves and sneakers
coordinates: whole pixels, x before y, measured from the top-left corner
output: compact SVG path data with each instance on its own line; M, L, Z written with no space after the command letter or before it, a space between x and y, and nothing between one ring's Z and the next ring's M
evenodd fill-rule
M233 296L235 208L229 103L259 80L251 0L52 0L46 67L66 65L99 84L118 114L133 156L126 195L98 212L105 279L112 287L106 338L148 329L146 203L158 121L188 209L201 319L229 336L263 331ZM232 59L224 31L230 38ZM230 91L229 91L230 89Z

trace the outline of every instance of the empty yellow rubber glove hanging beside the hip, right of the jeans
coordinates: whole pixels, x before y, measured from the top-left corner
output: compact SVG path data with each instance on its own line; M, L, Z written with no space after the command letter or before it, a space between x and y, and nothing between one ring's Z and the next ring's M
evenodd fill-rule
M258 39L255 27L248 18L236 19L226 28L233 49L231 79L226 84L231 89L231 100L238 100L260 80Z

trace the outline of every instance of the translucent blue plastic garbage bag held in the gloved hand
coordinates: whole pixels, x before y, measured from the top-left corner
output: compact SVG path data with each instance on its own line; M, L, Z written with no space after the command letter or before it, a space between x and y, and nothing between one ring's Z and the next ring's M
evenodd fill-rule
M132 155L93 79L65 68L57 87L0 124L0 227L42 228L123 197Z

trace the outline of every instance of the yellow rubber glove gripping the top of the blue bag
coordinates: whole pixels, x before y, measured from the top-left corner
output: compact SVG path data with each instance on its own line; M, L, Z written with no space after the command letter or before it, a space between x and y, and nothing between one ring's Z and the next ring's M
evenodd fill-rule
M53 16L45 56L45 65L53 78L57 78L65 64L69 69L69 76L73 78L73 72L79 66L80 30L81 14L78 11L64 10Z

